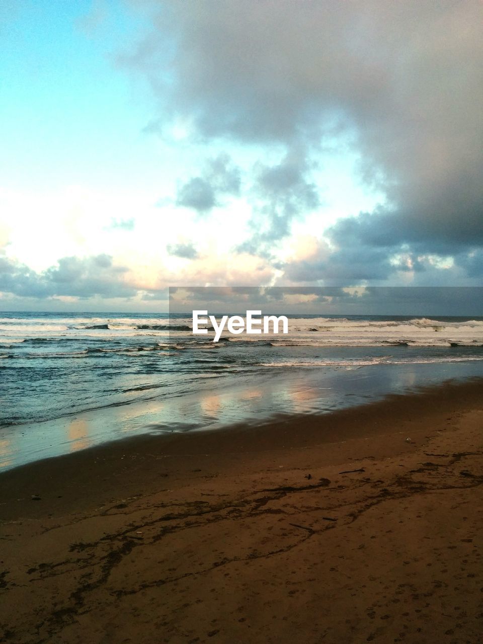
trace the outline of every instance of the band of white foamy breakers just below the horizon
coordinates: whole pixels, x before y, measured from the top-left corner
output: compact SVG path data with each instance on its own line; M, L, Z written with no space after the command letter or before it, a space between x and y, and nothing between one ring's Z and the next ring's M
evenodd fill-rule
M108 325L109 328L90 328ZM141 325L168 327L166 329L138 328ZM0 343L21 342L40 337L71 339L96 338L109 341L135 336L192 338L190 330L177 326L191 326L191 318L161 317L1 317ZM408 343L410 346L483 345L483 321L441 321L430 318L410 320L351 320L346 317L289 318L289 334L263 334L263 336L237 336L223 333L231 342L271 341L275 347L284 346L384 346Z

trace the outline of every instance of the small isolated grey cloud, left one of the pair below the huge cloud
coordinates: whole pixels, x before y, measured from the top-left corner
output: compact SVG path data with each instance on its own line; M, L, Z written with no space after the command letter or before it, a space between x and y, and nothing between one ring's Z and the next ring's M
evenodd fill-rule
M176 205L193 208L200 214L211 211L223 195L240 193L240 169L228 155L209 159L201 176L194 176L178 188Z

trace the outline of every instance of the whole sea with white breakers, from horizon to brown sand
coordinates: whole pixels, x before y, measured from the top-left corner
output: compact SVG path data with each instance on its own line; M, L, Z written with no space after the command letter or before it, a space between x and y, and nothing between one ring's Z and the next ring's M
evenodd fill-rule
M186 314L1 312L0 469L483 376L483 317L287 317L214 343Z

